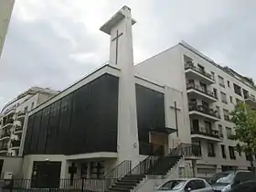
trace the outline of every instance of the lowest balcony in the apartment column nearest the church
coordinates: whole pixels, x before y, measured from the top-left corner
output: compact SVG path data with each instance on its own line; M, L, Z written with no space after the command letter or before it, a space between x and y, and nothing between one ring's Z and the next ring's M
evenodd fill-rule
M207 130L205 127L194 127L191 131L191 138L221 142L218 130Z

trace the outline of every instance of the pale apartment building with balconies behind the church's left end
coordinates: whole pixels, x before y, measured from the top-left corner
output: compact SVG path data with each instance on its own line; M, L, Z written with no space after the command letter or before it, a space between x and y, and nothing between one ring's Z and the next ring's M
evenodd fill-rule
M27 112L57 93L32 87L5 105L0 117L0 155L18 155Z

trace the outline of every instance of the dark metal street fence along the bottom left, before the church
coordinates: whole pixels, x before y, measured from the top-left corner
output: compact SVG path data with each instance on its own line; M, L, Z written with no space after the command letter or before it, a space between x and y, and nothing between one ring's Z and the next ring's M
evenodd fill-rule
M106 178L74 178L74 179L12 179L2 180L4 190L8 191L84 191L105 192L108 179Z

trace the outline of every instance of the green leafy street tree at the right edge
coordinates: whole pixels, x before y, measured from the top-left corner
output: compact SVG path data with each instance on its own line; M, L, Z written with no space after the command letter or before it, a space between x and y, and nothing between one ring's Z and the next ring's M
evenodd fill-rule
M245 103L240 103L230 113L231 122L235 124L235 134L231 136L238 141L237 151L250 156L251 170L255 173L252 155L256 154L256 111Z

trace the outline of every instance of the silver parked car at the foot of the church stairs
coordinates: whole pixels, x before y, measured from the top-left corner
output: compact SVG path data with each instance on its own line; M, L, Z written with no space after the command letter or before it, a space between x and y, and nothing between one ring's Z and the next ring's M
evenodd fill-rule
M202 178L179 178L169 180L158 187L156 192L213 192L205 179Z

